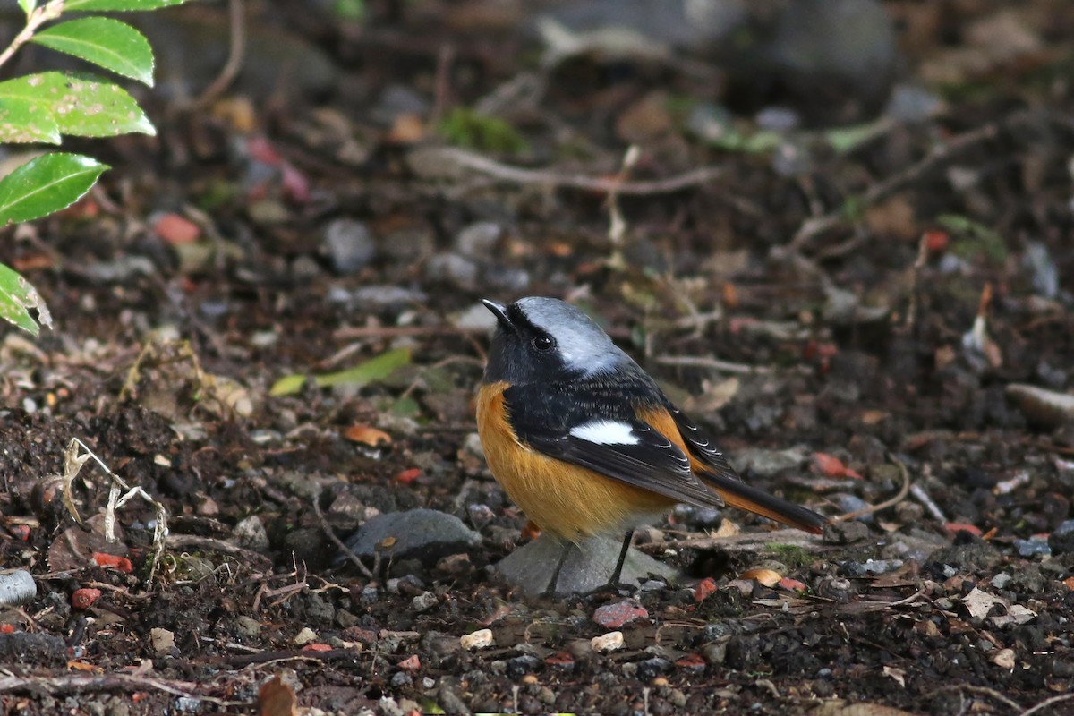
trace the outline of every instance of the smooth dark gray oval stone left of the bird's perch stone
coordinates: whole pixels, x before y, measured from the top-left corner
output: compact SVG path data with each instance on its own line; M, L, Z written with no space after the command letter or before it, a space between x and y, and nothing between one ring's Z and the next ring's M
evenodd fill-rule
M372 517L347 540L347 546L359 557L379 552L393 560L420 559L431 567L441 557L466 552L480 542L481 536L459 517L419 509Z

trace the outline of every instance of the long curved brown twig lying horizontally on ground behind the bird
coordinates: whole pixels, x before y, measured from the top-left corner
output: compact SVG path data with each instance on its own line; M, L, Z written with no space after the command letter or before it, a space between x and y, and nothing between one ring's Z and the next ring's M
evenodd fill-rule
M615 192L621 196L644 196L649 194L667 194L681 191L690 187L707 184L723 174L719 166L702 166L685 174L669 176L664 179L622 181L620 177L593 177L582 174L561 174L549 170L528 170L489 159L481 155L460 149L458 147L446 147L437 150L448 161L453 161L463 166L481 174L488 174L504 181L516 184L536 184L548 187L560 187L567 189L582 189L584 191L595 191L611 193Z

